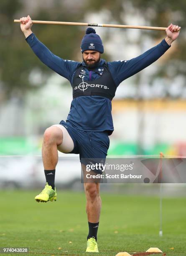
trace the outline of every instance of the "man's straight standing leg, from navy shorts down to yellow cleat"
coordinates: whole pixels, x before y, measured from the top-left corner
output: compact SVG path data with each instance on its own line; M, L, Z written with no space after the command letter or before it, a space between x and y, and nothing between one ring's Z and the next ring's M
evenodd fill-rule
M87 164L104 164L109 148L108 132L81 132L77 133L79 158L82 164L84 177L84 190L87 197L87 218L89 233L87 236L86 252L99 252L97 249L97 230L101 210L101 198L99 195L101 179L95 176L87 177ZM89 174L102 174L102 170L90 171ZM93 178L95 177L95 178Z

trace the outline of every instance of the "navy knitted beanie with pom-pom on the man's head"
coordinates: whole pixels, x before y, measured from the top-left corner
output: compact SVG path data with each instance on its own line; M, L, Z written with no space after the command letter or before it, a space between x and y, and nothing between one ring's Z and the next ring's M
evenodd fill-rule
M104 52L102 40L99 35L96 34L94 28L87 28L85 36L82 39L81 50L84 51L99 51Z

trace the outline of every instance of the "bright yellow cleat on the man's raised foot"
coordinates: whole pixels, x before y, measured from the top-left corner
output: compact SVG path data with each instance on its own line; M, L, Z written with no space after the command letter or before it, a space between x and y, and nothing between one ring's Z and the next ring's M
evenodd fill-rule
M56 193L56 188L55 190L52 189L51 186L48 185L46 182L46 186L43 189L43 191L39 194L36 195L34 198L37 202L48 202L48 201L56 201L57 199L57 193Z

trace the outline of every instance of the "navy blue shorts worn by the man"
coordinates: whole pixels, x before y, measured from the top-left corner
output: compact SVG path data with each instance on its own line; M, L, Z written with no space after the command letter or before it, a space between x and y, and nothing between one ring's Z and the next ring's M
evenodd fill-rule
M98 163L98 159L104 164L110 145L107 131L81 131L64 120L61 120L60 124L64 125L74 142L74 149L67 154L79 154L80 162L85 165L91 162ZM89 159L89 161L87 162L85 159Z

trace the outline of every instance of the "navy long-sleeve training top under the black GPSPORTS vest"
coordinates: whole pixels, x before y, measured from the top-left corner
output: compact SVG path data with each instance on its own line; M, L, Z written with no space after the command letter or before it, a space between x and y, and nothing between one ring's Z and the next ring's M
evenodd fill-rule
M86 64L78 61L64 60L54 55L38 38L32 33L26 38L33 52L38 58L56 73L65 77L72 84L76 69L82 64L85 72L85 80L98 79L103 72L105 60L101 59L95 72L86 68ZM159 59L171 46L165 39L160 44L145 51L138 57L124 61L107 62L115 85L118 86L122 81L148 67ZM71 102L70 112L66 122L82 131L109 131L109 135L114 130L112 121L111 100L100 96L81 96L76 97Z

